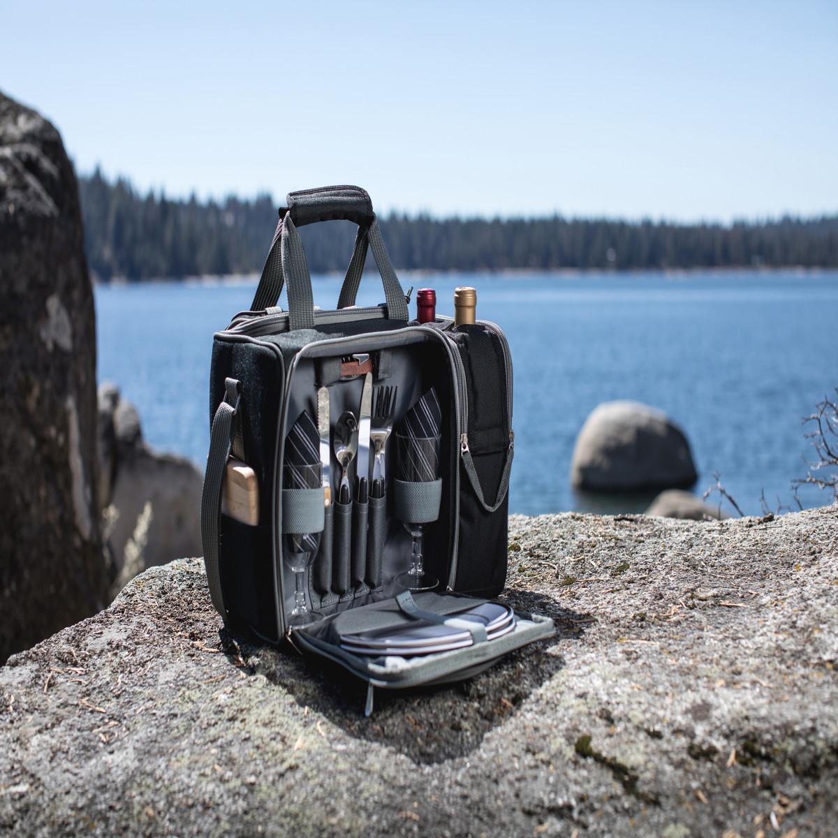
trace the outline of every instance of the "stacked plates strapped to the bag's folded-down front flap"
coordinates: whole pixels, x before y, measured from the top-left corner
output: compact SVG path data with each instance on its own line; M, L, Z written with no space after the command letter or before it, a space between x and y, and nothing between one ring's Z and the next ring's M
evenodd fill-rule
M467 611L447 614L445 618L467 620L482 625L490 641L503 637L504 634L509 634L515 629L515 616L512 609L508 605L499 603L483 603L474 608L468 608ZM354 654L369 654L376 657L396 654L402 658L417 654L450 652L472 644L472 634L468 629L460 629L444 623L432 623L429 620L416 620L391 629L372 629L358 632L358 634L344 634L340 639L341 648Z

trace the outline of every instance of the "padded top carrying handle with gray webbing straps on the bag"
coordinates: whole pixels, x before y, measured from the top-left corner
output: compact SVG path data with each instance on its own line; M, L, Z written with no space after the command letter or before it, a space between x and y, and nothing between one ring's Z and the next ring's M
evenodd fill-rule
M299 225L318 221L349 220L358 225L355 248L349 262L338 308L354 305L354 297L364 272L367 247L372 250L384 286L387 318L407 320L407 302L396 272L387 256L370 195L357 186L329 186L304 189L287 196L287 207L280 209L280 220L262 269L259 287L251 309L276 305L283 285L288 288L288 320L292 329L314 328L314 300ZM350 301L350 302L347 302Z

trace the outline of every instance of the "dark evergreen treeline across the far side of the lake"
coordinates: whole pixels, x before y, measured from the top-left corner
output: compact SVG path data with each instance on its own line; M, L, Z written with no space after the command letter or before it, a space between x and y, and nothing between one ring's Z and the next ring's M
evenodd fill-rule
M222 202L139 194L97 169L79 180L85 246L100 280L241 274L261 270L277 223L270 195ZM403 269L838 267L838 215L732 225L608 219L380 219L393 264ZM342 271L354 227L301 230L313 272ZM370 257L371 264L371 257Z

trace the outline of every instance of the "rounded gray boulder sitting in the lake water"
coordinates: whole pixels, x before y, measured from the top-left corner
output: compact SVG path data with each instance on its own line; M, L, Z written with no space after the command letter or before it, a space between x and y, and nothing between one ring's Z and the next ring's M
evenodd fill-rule
M573 449L571 482L590 492L682 489L697 477L684 432L639 401L597 406Z

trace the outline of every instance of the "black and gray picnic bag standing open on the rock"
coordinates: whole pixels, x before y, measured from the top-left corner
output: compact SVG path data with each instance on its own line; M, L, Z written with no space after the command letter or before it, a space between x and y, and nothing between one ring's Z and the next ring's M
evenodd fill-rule
M314 308L297 228L328 220L354 222L358 233L338 308L326 311ZM355 296L368 250L385 303L361 308ZM287 311L277 307L283 285ZM431 388L437 394L439 478L432 485L408 481L398 487L400 498L406 492L420 506L430 487L438 503L436 520L424 527L425 567L439 580L432 591L411 594L396 581L411 562L412 541L397 517L396 478L391 477L395 434L382 448L385 479L376 494L383 497L353 491L349 498L344 495L348 502L340 502L342 467L334 425L344 411L363 415L370 380L374 393L389 388L388 424L395 426L423 394ZM332 186L287 196L251 310L236 314L214 336L209 405L201 504L204 563L212 603L233 632L269 644L287 639L303 654L349 670L368 685L368 714L376 686L468 678L511 650L554 634L549 618L515 613L515 629L504 636L488 639L484 630L474 629L467 646L433 654L376 657L341 644L347 634L367 629L409 626L417 619L450 622L456 613L501 592L514 453L512 363L503 332L484 321L455 328L453 318L438 315L433 323L411 321L364 189ZM324 406L331 433L328 453L321 445L319 454L327 486L286 488L287 435L303 411L322 427ZM234 461L252 469L258 489L247 523L223 503L228 465ZM364 469L357 462L349 471L350 482L360 482ZM316 619L289 628L296 578L283 561L289 543L283 533L308 528L317 530L317 539L302 578Z

